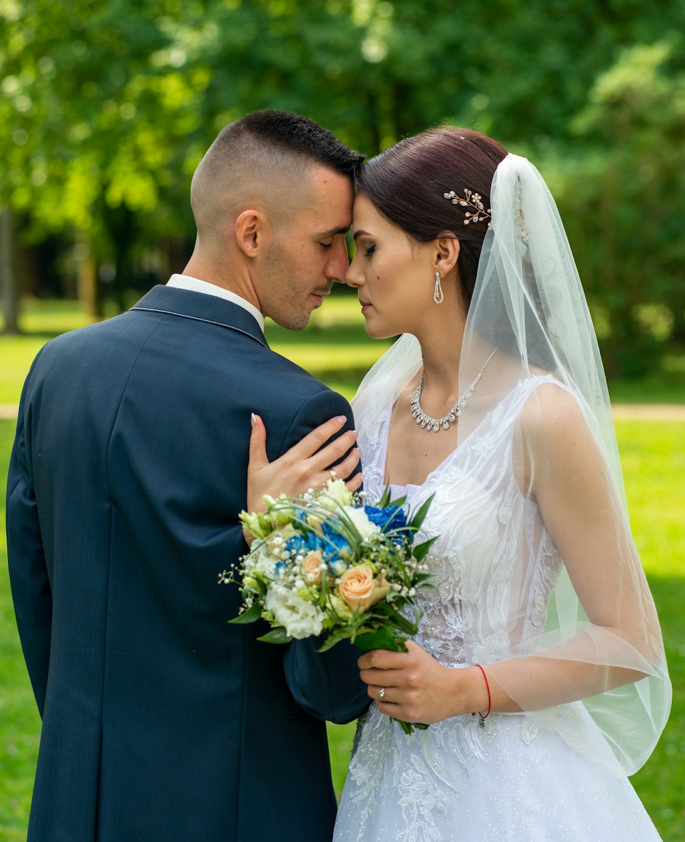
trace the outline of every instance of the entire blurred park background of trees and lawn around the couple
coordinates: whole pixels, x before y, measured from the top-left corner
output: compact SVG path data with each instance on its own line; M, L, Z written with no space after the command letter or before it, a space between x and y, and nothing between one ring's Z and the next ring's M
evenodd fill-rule
M442 123L497 137L552 189L600 340L674 680L666 732L632 780L662 837L685 840L683 33L682 0L0 0L0 473L40 346L183 269L190 177L227 122L290 109L367 155ZM342 289L309 328L268 338L348 397L387 347ZM40 722L3 526L0 839L13 842ZM330 734L340 790L351 727Z

